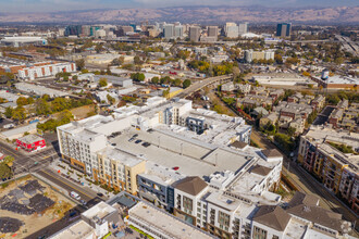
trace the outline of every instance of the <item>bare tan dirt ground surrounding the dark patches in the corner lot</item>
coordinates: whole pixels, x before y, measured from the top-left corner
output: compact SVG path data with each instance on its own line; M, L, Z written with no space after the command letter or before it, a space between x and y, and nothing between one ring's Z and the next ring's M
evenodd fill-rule
M5 188L0 186L0 199L14 194L11 192L15 191L17 197L18 197L18 194L24 196L21 200L16 200L20 204L23 204L24 201L26 201L27 199L29 199L29 201L32 201L32 198L34 197L34 190L30 191L30 194L27 193L26 190L22 190L22 189L24 189L24 186L32 180L34 183L34 180L37 180L37 178L35 178L33 176L26 176L25 178L21 178L16 181L10 183L9 186L7 186ZM25 238L25 237L32 235L33 232L36 232L36 231L47 227L48 225L61 219L69 210L71 210L75 206L75 203L73 203L72 201L70 201L69 199L63 197L62 194L52 190L49 187L49 185L44 184L40 180L37 180L37 181L39 183L40 186L42 186L42 187L40 187L40 190L39 189L35 190L37 198L42 197L46 200L50 201L50 203L52 202L51 203L52 205L48 206L45 210L41 209L41 212L34 212L34 213L30 213L30 215L26 215L26 214L11 212L9 210L1 209L4 205L4 203L2 202L2 204L0 205L0 218L7 218L7 217L15 218L15 219L21 221L23 225L18 228L17 231L11 231L11 232L7 232L7 234L3 234L0 231L0 238ZM36 183L36 185L37 185L37 183ZM30 207L34 203L36 204L36 202L32 202L27 206ZM25 206L25 204L23 204L23 205ZM38 204L41 204L41 203L38 203Z

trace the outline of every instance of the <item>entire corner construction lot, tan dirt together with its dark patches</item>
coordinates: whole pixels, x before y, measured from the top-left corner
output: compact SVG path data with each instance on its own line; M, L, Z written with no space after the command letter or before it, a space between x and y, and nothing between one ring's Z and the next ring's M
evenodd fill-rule
M32 175L0 185L0 238L25 238L63 218L75 203Z

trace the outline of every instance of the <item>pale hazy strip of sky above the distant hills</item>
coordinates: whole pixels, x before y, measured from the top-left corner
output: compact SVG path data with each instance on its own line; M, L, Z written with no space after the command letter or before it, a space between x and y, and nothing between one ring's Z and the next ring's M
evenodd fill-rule
M0 13L182 5L354 7L358 0L0 0Z

